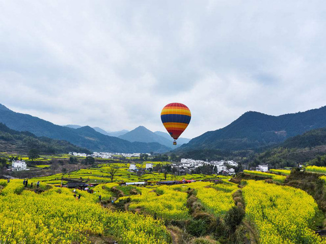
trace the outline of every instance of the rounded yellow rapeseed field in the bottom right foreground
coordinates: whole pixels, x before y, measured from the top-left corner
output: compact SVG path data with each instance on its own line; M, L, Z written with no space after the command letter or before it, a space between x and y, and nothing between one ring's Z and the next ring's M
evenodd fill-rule
M318 206L306 192L248 180L242 189L248 221L255 224L261 244L326 243L312 230Z

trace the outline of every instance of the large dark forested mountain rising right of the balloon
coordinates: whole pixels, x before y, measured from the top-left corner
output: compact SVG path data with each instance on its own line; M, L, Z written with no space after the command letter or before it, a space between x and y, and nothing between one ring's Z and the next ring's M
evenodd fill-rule
M322 127L326 127L326 106L280 116L250 111L223 129L206 132L177 150L254 149L276 145L289 137Z

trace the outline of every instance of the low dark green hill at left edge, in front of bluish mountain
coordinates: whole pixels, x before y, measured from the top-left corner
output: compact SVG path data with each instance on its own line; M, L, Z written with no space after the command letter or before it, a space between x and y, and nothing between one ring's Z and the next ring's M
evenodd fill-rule
M75 146L67 141L37 137L31 132L15 131L0 123L0 151L26 153L32 148L37 148L44 154L68 153L69 151L91 153L88 149Z

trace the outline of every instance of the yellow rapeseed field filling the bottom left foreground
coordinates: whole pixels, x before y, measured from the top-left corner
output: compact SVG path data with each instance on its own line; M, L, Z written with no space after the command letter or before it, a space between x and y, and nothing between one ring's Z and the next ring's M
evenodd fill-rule
M0 243L90 243L92 235L112 235L128 244L171 242L164 224L150 216L112 212L93 197L76 200L65 188L37 194L24 189L21 180L1 190L0 220Z

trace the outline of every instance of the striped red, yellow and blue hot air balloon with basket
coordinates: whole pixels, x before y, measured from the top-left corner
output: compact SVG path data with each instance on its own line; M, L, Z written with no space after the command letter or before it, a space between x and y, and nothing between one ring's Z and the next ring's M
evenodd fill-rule
M169 103L161 112L162 123L174 139L173 145L190 123L192 114L187 106L182 103Z

